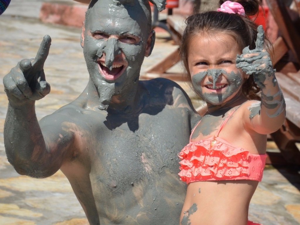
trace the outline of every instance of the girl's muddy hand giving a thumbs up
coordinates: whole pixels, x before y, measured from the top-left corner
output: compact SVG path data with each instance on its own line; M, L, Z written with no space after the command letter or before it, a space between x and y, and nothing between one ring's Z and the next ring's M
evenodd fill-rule
M247 75L253 74L257 86L264 88L266 77L274 75L274 70L270 55L264 47L265 33L261 25L258 26L257 32L255 49L245 47L242 54L236 57L236 67L241 68Z

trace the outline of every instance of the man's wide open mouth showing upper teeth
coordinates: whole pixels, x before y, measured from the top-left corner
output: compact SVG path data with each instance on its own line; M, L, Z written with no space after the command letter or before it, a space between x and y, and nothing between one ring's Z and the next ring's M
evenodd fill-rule
M106 80L118 79L126 69L125 64L113 63L112 70L110 70L103 61L98 61L98 66L100 73L104 76Z

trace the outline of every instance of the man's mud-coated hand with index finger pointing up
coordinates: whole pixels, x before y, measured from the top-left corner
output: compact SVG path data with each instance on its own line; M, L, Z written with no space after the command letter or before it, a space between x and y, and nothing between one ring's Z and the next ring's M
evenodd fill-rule
M23 59L4 76L4 90L13 105L24 105L44 98L50 92L44 63L49 54L51 38L45 35L35 58Z

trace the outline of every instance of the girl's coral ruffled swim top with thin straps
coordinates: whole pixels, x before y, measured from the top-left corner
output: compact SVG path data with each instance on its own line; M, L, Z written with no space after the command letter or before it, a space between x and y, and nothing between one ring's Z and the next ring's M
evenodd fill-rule
M179 176L182 181L188 184L196 181L262 180L266 154L251 154L218 137L234 111L223 121L214 137L190 141L178 154L181 159Z

